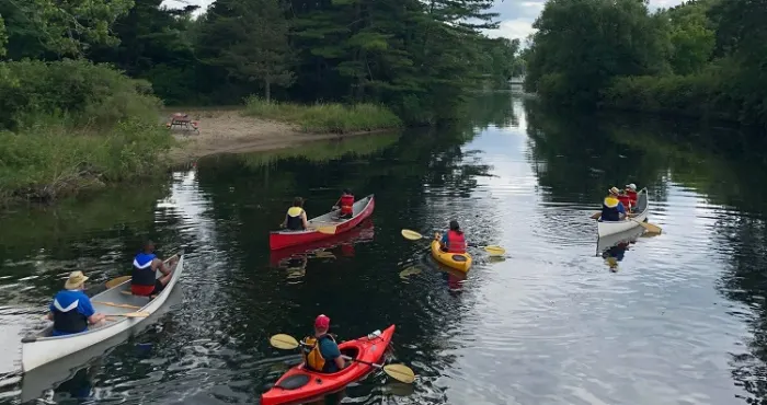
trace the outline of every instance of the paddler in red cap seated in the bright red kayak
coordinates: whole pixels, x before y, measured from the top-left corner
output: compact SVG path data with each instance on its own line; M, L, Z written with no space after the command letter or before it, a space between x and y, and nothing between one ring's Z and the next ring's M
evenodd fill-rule
M319 315L314 320L314 336L307 336L301 340L301 355L304 364L316 372L336 372L346 367L346 361L341 357L341 350L335 338L328 333L330 317Z

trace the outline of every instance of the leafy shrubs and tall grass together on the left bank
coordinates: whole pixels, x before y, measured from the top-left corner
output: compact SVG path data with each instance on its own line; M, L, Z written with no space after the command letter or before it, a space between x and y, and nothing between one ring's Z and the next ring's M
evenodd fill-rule
M87 61L0 63L0 202L158 172L173 138L146 83Z

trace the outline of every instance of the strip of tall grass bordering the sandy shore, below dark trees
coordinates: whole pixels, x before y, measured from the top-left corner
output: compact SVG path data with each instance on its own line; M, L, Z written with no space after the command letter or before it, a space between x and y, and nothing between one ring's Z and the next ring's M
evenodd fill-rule
M245 102L245 115L298 125L306 132L355 132L397 128L402 121L394 113L376 104L277 103L251 96Z

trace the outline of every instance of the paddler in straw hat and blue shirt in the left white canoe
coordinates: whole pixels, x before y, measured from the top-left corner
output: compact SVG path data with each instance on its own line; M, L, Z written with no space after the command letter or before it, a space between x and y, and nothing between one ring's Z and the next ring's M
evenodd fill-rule
M48 320L54 321L53 336L85 332L89 324L104 321L104 314L95 312L91 299L82 291L87 280L82 271L72 271L64 284L64 290L54 297L48 312Z

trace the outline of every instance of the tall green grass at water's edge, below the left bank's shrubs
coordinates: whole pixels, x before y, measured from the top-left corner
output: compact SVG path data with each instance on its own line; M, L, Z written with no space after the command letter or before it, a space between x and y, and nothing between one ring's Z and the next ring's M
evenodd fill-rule
M50 200L154 174L167 166L159 154L174 142L164 128L145 120L101 130L55 121L0 132L0 201Z

